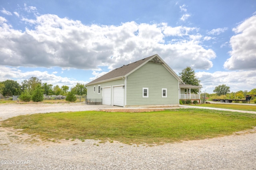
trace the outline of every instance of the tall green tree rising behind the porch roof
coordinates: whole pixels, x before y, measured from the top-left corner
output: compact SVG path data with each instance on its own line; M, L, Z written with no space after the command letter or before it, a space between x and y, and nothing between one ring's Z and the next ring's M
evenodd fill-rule
M179 76L185 84L200 86L201 81L196 78L196 73L190 66L187 66L182 72L179 72ZM197 94L198 89L191 89L191 92Z

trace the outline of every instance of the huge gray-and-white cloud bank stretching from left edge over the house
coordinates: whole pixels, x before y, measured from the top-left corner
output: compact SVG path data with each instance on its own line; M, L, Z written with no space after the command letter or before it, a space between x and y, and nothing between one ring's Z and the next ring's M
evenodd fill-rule
M157 53L176 71L186 66L207 70L216 57L212 49L200 45L202 35L194 33L198 30L194 27L134 21L117 26L84 25L81 21L51 14L22 20L34 24L34 28L22 32L12 29L0 18L0 41L5 42L0 44L2 65L87 70L109 66L114 69ZM168 36L182 38L166 41Z

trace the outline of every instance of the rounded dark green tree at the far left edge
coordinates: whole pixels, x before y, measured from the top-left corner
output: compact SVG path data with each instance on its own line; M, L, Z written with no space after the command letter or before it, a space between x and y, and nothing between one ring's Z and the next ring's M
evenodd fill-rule
M2 89L2 95L3 96L18 96L21 93L20 84L18 84L17 81L14 80L5 80L1 82L1 84L4 84L4 88Z

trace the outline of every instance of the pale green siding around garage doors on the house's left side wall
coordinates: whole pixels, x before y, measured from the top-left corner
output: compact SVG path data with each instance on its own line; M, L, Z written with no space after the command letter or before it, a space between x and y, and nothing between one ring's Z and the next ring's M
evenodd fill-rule
M100 94L98 94L98 85L100 85L100 88L108 87L108 86L116 86L116 85L124 85L124 80L121 78L119 80L99 83L87 86L87 98L88 99L102 99L102 90L100 90ZM95 86L95 92L94 92L94 86ZM112 90L112 89L111 89Z

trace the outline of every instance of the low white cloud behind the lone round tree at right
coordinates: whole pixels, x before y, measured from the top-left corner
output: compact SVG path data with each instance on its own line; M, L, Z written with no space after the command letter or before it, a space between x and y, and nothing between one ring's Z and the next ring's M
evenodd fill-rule
M222 84L229 86L230 92L250 91L256 87L256 71L197 72L196 76L201 80L202 91L207 93L213 93L214 88Z

